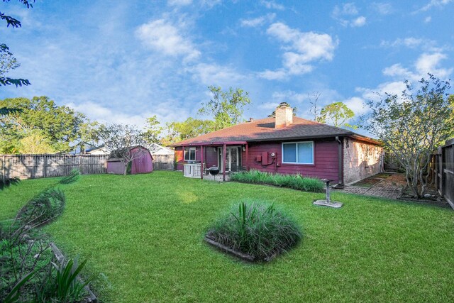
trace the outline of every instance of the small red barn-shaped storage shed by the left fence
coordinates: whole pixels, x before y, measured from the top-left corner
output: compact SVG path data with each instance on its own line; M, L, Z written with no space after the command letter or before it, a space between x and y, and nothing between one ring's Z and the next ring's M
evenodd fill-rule
M125 163L128 162L126 166ZM143 146L130 146L114 150L107 159L107 173L124 175L146 174L153 172L153 156Z

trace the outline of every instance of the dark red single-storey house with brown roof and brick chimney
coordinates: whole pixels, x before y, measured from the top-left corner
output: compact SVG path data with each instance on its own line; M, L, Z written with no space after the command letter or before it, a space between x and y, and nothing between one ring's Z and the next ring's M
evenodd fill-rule
M350 184L382 170L383 148L378 141L353 131L293 116L283 102L275 117L206 133L170 145L177 170L188 177L204 177L217 166L226 173L261 170L326 178Z

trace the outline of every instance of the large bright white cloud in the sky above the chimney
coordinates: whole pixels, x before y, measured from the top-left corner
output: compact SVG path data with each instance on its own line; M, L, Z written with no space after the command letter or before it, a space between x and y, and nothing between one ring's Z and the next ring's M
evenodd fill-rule
M284 69L272 72L265 70L259 77L265 79L285 79L287 75L302 75L314 70L310 64L316 60L333 60L334 50L338 44L326 33L301 32L289 28L282 22L272 23L267 34L284 43L282 65Z

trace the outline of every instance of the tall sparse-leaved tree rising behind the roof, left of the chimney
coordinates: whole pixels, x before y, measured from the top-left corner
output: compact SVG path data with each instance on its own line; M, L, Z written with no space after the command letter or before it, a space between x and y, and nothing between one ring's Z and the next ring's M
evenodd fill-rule
M243 108L250 104L248 92L243 89L223 92L221 87L208 87L213 95L210 101L202 104L199 114L213 116L214 131L243 122Z

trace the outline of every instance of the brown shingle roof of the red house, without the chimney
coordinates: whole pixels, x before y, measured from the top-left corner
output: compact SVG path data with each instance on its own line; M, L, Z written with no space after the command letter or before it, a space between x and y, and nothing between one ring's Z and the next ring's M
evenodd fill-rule
M228 128L206 133L190 138L170 146L192 145L200 143L223 143L231 141L279 141L303 138L326 138L334 136L360 135L343 128L309 121L298 117L293 118L293 123L285 128L275 128L275 118L265 118L245 122ZM362 138L367 138L360 136Z

